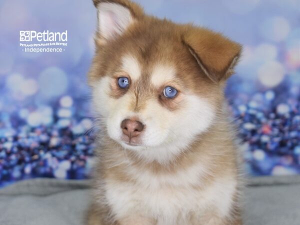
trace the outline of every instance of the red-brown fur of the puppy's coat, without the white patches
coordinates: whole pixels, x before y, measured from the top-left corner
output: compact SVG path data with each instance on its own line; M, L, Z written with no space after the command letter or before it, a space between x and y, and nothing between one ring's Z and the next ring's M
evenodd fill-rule
M132 111L145 108L147 99L150 98L156 98L161 106L170 111L180 110L185 106L180 94L178 98L170 100L161 94L166 84L159 88L154 88L150 84L150 68L157 62L172 62L177 71L176 79L171 81L172 86L175 86L179 92L184 93L188 90L208 99L216 109L216 117L209 129L197 135L188 149L183 150L171 163L166 164L157 161L148 162L137 157L132 151L124 153L122 147L104 133L100 139L101 146L99 144L96 149L98 158L94 171L96 191L94 191L93 203L88 210L87 224L156 224L157 218L145 218L142 215L132 215L129 220L127 218L115 219L107 203L103 183L105 180L113 180L118 185L135 185L137 181L127 173L129 166L153 175L169 175L187 169L193 164L202 164L207 169L207 174L202 177L201 185L191 187L194 190L202 191L209 188L215 180L222 177L232 177L237 180L237 186L232 195L233 203L227 216L219 217L213 207L207 208L200 221L198 215L195 216L191 212L189 224L242 224L238 194L241 182L235 132L222 108L223 87L226 79L233 73L241 46L206 28L190 24L175 24L166 19L161 20L146 15L142 8L129 0L93 0L93 2L95 6L101 2L123 5L130 10L134 22L115 39L104 40L99 32L96 33L96 52L88 75L92 88L100 78L111 76L113 79L108 94L117 99L125 93L135 93L136 98L131 102ZM137 58L142 66L142 75L138 82L132 83L130 89L124 90L117 87L116 78L121 74L130 79L130 74L119 71L121 56L128 53ZM102 128L105 130L105 127ZM111 166L115 162L119 164ZM133 220L136 219L136 222L132 221L132 217Z

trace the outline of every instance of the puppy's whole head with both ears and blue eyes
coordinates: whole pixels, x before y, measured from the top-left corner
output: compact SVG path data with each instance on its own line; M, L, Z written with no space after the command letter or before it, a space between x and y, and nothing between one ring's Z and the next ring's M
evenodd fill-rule
M94 4L96 53L88 78L102 128L126 149L168 160L214 122L240 45L145 15L128 0Z

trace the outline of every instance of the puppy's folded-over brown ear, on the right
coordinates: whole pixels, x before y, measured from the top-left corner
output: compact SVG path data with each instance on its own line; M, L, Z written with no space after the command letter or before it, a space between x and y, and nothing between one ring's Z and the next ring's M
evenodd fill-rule
M225 80L233 73L241 51L240 44L205 28L187 29L183 34L183 43L214 82Z

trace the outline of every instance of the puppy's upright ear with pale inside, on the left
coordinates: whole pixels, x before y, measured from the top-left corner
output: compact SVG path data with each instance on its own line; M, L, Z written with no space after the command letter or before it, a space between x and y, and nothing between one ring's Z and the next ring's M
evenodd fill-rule
M144 15L142 8L129 0L93 0L97 8L97 43L105 44Z

